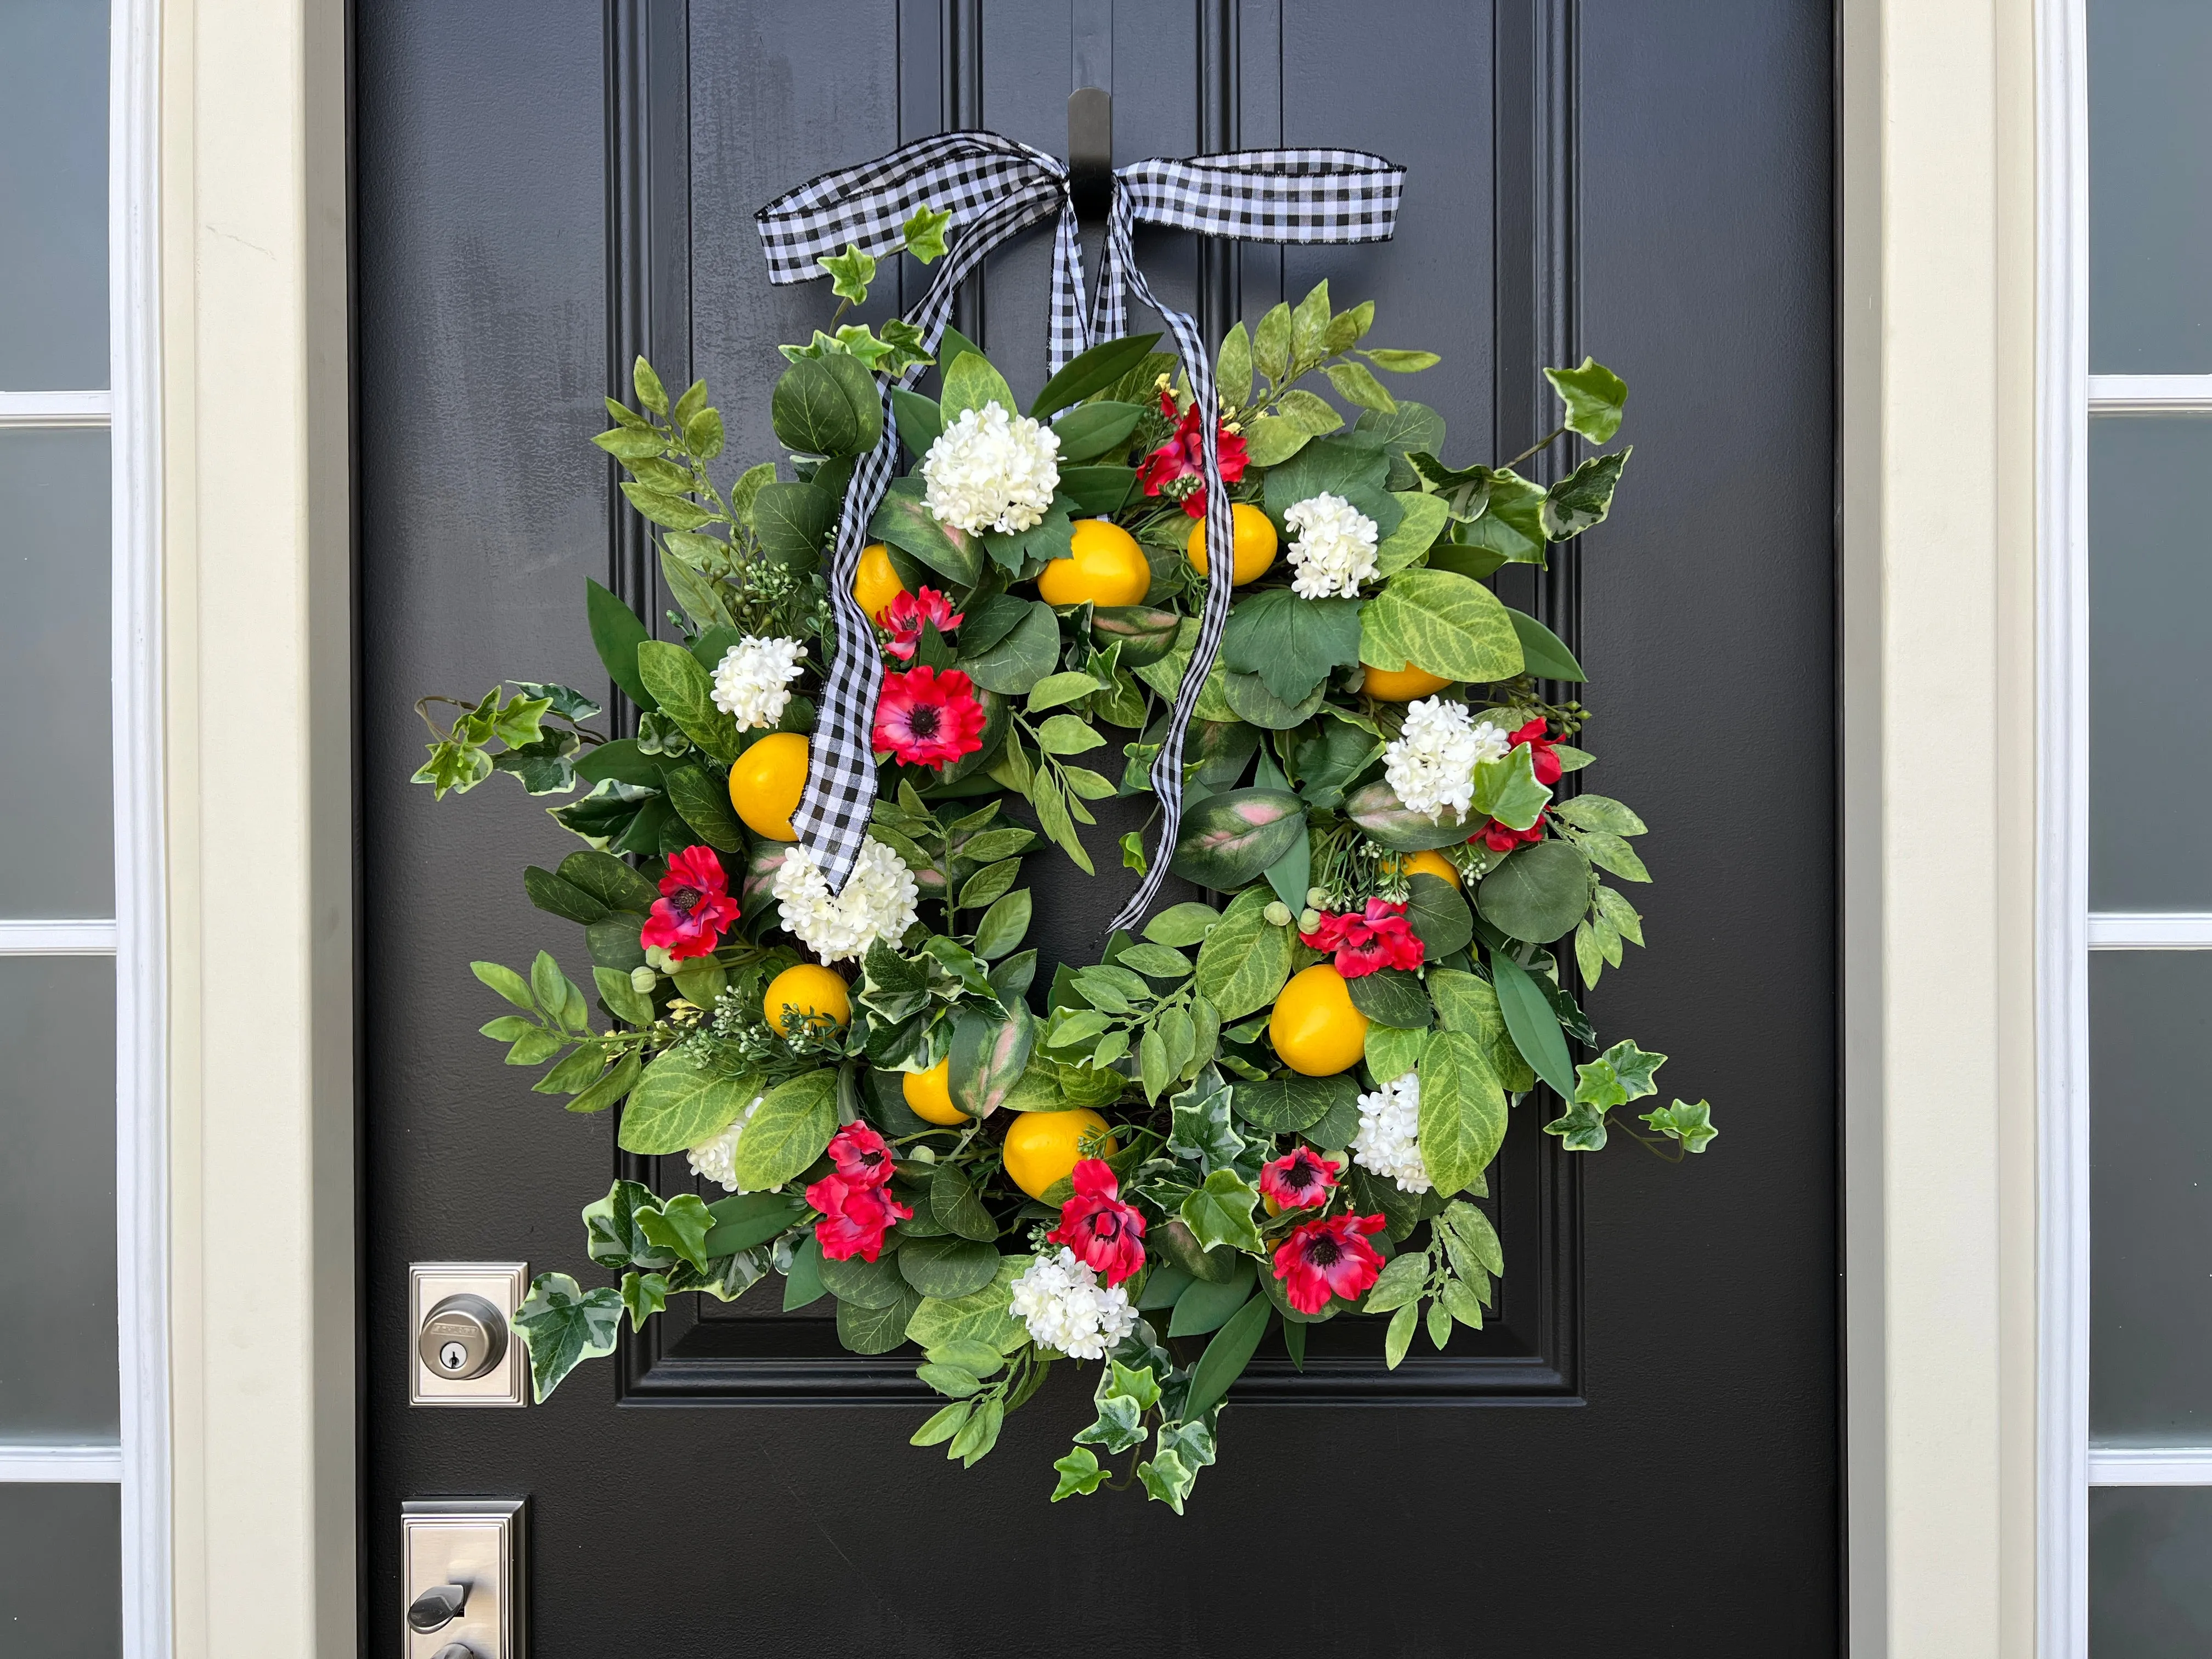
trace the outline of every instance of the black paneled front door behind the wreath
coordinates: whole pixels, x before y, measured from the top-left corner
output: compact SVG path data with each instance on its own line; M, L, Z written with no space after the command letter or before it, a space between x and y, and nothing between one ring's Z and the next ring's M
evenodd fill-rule
M1073 15L1071 15L1073 13ZM721 1655L1812 1655L1840 1648L1832 15L1818 0L538 0L354 9L365 836L365 1652L398 1652L398 1504L533 1500L533 1650ZM911 1356L821 1310L672 1305L542 1407L407 1405L407 1263L584 1263L617 1159L476 1035L467 960L573 929L522 863L566 836L482 790L434 810L409 703L498 675L604 686L584 577L655 615L588 445L644 349L772 453L752 210L907 137L1064 146L1110 84L1117 161L1334 144L1407 164L1367 248L1139 237L1210 336L1327 276L1442 349L1453 458L1551 425L1537 369L1635 387L1615 520L1506 597L1595 679L1606 781L1652 823L1650 949L1590 993L1723 1137L1683 1166L1566 1155L1520 1108L1491 1175L1513 1272L1447 1354L1360 1321L1267 1349L1177 1520L1048 1506L1088 1420L1055 1378L960 1471L909 1449ZM1048 243L962 301L1026 396ZM1150 325L1139 321L1139 325ZM794 332L796 330L796 332ZM1026 369L1026 385L1022 372ZM566 843L566 845L564 845ZM1051 958L1121 889L1037 878ZM657 1168L659 1166L659 1168ZM672 1168L666 1168L672 1166ZM679 1298L681 1301L681 1298ZM703 1301L703 1298L701 1298ZM1327 1340L1323 1340L1327 1336Z

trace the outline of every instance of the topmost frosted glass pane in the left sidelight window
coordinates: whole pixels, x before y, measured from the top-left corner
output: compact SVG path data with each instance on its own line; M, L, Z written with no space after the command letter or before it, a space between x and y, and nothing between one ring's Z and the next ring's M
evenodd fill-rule
M108 7L0 2L0 392L108 383Z

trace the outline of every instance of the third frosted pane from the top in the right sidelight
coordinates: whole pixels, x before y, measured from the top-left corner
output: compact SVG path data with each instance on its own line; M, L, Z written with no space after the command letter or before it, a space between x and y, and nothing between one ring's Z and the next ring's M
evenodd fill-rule
M2097 951L2088 1022L2090 1433L2212 1444L2212 951Z

